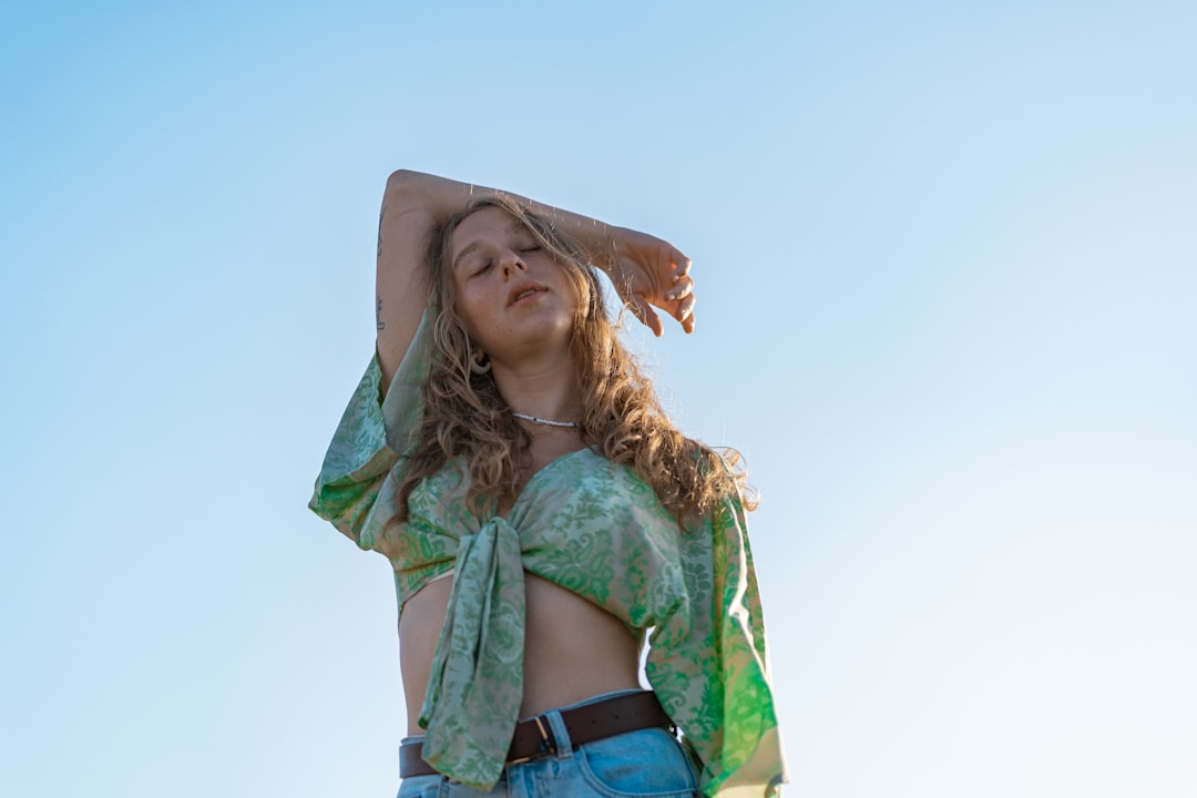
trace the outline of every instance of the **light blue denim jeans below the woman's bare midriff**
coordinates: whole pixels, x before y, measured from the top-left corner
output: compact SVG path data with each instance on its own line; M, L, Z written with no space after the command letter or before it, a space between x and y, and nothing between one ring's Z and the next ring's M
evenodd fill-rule
M610 694L618 695L618 694ZM601 695L571 707L610 698ZM570 707L563 707L570 708ZM399 798L697 798L698 773L681 743L664 729L640 729L575 747L552 709L543 715L557 753L503 769L491 792L431 774L403 779ZM408 739L420 739L413 737Z

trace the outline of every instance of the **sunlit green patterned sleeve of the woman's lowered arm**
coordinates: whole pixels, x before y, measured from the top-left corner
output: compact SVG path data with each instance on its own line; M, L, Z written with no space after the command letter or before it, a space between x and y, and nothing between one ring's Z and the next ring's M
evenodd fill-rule
M687 599L657 625L645 672L719 798L776 796L785 780L760 593L739 497L681 535Z

